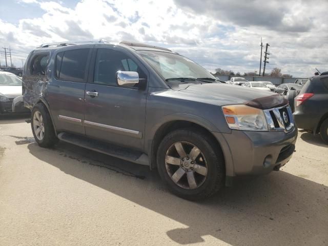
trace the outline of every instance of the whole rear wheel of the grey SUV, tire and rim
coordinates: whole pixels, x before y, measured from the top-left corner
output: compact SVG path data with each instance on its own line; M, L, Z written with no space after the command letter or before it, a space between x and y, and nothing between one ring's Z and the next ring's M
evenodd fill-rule
M40 147L51 147L58 141L48 110L43 104L34 106L31 127L35 141Z

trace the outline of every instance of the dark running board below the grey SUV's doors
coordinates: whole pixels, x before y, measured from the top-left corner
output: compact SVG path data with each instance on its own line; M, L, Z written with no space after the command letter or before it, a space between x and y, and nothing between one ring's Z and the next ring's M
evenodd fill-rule
M83 147L89 150L97 151L106 155L114 156L120 159L131 161L140 165L149 166L148 155L140 151L131 150L124 147L111 145L107 142L90 139L84 136L75 135L72 133L61 132L57 137L64 142Z

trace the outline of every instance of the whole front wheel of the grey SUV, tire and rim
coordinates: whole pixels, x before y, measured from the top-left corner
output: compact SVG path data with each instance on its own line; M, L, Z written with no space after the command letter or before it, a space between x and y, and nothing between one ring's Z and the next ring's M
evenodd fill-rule
M165 136L158 147L157 168L169 190L188 200L207 198L224 185L222 153L214 139L196 129Z

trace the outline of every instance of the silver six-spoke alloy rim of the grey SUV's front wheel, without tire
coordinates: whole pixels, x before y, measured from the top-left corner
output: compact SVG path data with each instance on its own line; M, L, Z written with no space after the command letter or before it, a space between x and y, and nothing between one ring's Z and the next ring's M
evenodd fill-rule
M207 161L200 149L190 142L171 145L165 156L165 166L172 181L183 189L197 189L207 178Z

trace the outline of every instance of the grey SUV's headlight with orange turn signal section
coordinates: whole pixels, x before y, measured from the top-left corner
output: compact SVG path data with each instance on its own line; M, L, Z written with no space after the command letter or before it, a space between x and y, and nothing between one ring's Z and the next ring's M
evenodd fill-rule
M228 105L222 107L230 129L247 131L268 131L267 120L261 109L246 105Z

